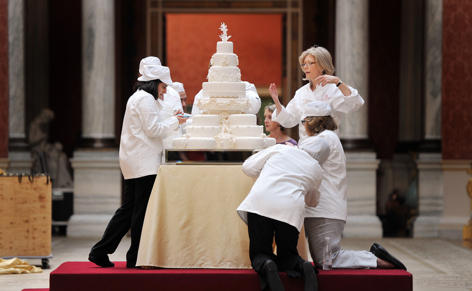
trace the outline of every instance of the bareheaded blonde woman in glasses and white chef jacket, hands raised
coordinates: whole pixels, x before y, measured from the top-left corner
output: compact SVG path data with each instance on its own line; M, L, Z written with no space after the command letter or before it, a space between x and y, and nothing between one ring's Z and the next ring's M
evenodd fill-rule
M275 84L270 84L269 92L276 107L272 113L272 120L286 128L298 124L298 143L300 143L307 138L303 124L300 122L305 104L311 101L327 102L331 106L332 116L339 128L341 113L346 114L358 110L364 104L364 100L356 89L333 76L334 66L331 54L325 48L311 47L301 53L298 61L305 75L303 80L308 80L309 83L295 91L295 96L287 107L283 107L280 103Z

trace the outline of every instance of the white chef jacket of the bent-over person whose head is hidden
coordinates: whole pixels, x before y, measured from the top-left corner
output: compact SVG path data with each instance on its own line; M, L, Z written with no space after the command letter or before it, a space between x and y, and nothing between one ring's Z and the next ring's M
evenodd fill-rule
M318 161L296 147L275 145L247 158L242 171L257 180L236 209L239 217L247 224L247 212L257 213L300 231L305 203L320 200L324 175Z

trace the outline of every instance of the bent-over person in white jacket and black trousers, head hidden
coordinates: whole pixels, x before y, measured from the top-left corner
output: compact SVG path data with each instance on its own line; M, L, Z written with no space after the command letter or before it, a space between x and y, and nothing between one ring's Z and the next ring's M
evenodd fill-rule
M318 204L323 171L317 160L326 159L329 146L321 140L305 150L275 145L242 165L246 175L257 178L237 213L248 227L249 258L259 273L262 290L267 284L272 291L283 290L278 270L299 271L306 288L317 287L315 269L298 255L296 245L305 203ZM274 236L277 255L272 251Z

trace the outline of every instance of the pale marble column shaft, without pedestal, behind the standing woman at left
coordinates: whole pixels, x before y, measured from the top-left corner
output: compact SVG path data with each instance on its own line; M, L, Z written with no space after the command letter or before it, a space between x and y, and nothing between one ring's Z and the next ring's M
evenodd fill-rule
M93 147L115 140L115 5L82 2L82 137Z

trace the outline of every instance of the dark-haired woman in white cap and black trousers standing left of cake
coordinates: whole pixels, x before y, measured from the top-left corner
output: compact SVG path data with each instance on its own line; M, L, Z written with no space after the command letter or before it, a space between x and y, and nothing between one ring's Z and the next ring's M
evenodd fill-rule
M115 265L108 254L116 251L130 229L126 267L136 266L146 208L161 164L162 139L187 119L172 116L162 121L159 113L156 100L173 84L168 67L162 66L158 58L148 57L141 60L139 73L135 93L126 104L119 144L119 166L125 183L123 203L89 253L89 261L102 267Z

